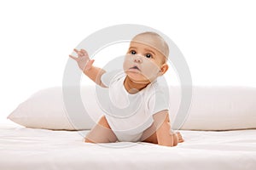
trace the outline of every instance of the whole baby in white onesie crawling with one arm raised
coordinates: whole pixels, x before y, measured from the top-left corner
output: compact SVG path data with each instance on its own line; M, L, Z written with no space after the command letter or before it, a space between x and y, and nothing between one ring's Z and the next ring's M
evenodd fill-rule
M84 49L74 51L78 57L69 56L87 77L108 88L110 103L116 105L109 104L104 116L86 135L85 142L140 141L165 146L183 142L181 134L171 130L169 104L157 82L168 70L169 55L168 45L160 35L143 32L133 37L123 71L114 75L93 66L94 59Z

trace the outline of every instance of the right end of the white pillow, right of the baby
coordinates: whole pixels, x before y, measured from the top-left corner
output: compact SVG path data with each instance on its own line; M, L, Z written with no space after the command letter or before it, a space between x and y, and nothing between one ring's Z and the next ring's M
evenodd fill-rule
M170 88L171 116L177 113L180 95ZM176 94L176 95L172 95ZM235 130L256 128L256 88L194 86L189 116L181 129Z

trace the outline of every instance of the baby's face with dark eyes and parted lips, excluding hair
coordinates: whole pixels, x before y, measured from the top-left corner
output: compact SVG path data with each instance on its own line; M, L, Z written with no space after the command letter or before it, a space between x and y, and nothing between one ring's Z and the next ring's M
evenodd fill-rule
M165 56L157 49L154 41L142 42L132 40L125 55L124 71L134 82L153 82L163 74L162 66L166 65Z

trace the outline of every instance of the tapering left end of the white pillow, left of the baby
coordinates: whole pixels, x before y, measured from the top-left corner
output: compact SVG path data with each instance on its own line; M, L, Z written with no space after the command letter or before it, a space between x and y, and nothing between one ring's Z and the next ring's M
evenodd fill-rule
M92 87L84 87L82 89L84 94L89 94L87 96L91 99ZM72 97L70 96L70 98ZM95 124L89 115L84 114L83 127L77 128L73 126L67 115L61 87L46 88L38 91L21 103L8 118L24 127L53 130L90 129Z

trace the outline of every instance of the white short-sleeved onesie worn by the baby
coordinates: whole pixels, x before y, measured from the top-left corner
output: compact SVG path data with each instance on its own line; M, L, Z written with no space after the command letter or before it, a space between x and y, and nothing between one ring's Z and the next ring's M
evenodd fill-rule
M169 102L157 80L137 94L129 94L124 87L125 77L124 71L111 71L102 75L102 83L108 87L108 92L101 96L104 101L101 107L120 142L137 142L143 131L154 122L153 115L169 110Z

